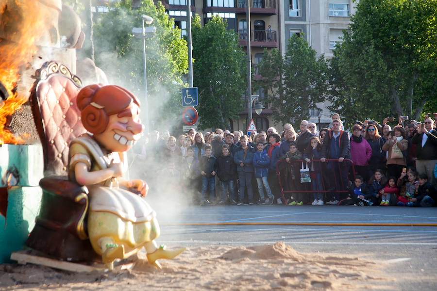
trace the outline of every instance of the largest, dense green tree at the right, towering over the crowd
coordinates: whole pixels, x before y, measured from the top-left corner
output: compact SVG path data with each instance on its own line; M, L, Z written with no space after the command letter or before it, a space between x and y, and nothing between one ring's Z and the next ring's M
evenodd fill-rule
M349 125L388 113L418 119L437 100L437 1L365 0L356 8L330 62L330 109Z

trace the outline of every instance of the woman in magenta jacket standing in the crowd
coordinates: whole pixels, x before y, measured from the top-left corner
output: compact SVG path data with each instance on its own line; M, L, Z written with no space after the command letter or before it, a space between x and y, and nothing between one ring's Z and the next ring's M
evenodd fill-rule
M369 160L372 156L372 148L361 135L361 126L355 124L352 128L351 137L351 160L354 163L355 174L369 181Z

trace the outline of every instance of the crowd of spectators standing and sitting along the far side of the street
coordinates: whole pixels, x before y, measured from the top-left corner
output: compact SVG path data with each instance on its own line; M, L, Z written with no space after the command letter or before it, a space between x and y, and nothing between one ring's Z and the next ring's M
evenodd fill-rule
M281 132L271 127L250 135L190 129L176 138L151 131L134 163L145 169L141 174L151 189L183 194L199 205L432 207L434 118L420 123L401 116L393 128L389 117L381 124L357 121L352 134L336 113L319 131L306 120L297 132L291 124Z

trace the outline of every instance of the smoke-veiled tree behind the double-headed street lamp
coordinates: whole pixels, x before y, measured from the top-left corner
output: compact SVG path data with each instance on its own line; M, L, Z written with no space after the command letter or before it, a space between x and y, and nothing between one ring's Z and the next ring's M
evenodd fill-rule
M146 66L149 118L151 128L174 124L180 115L182 76L187 73L188 53L181 31L173 29L173 19L161 2L143 0L137 9L131 1L110 4L109 12L95 14L94 48L96 65L110 82L144 96L143 40L135 38L133 27L141 27L141 15L153 17L156 33L146 38ZM143 111L145 108L143 107Z

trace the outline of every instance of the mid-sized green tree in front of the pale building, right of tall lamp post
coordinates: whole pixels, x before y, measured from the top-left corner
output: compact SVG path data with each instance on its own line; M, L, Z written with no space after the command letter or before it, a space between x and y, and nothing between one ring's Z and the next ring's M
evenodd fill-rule
M295 126L308 118L308 109L318 109L328 88L328 66L323 55L316 59L316 51L297 35L288 40L286 55L277 49L264 51L259 74L260 85L271 92L273 120L291 122Z

